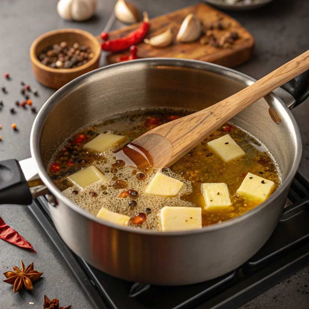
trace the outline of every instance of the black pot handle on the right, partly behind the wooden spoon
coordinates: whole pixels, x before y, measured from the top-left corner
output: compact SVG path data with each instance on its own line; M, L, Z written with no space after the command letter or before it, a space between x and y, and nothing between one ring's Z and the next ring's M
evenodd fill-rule
M293 107L301 104L309 96L309 70L291 79L281 86L296 101Z

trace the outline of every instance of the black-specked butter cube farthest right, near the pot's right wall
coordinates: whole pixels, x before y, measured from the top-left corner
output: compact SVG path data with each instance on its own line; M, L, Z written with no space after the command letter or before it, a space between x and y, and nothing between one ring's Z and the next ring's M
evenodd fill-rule
M248 173L237 193L251 201L264 202L273 192L275 184L271 180Z

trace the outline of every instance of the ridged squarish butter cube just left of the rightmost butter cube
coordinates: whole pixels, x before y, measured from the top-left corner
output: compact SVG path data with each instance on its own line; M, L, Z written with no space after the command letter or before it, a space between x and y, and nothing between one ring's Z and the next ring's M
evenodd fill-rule
M227 184L205 183L202 184L202 192L206 210L222 210L232 205Z

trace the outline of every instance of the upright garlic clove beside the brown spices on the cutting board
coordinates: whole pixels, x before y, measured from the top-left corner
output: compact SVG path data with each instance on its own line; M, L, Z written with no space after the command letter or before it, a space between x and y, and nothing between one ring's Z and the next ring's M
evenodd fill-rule
M177 42L193 42L201 36L201 22L196 15L190 13L182 22L178 34L176 36Z

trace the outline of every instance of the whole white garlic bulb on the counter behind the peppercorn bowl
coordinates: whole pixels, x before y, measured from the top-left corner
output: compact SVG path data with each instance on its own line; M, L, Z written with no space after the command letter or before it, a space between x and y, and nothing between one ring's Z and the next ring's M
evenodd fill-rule
M83 21L95 12L96 0L60 0L57 12L63 19Z

